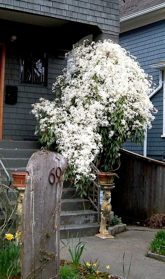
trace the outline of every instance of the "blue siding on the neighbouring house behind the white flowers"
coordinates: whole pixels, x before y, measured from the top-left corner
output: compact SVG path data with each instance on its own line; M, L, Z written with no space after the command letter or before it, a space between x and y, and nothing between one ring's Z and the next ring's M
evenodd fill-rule
M159 71L151 69L149 65L165 60L165 20L121 33L119 44L137 57L137 61L145 72L153 76L153 82L157 87ZM163 133L163 89L153 96L151 101L158 109L158 113L152 122L152 129L148 130L147 157L161 160L165 151L165 138L161 138ZM143 155L143 146L137 147L134 143L126 143L123 148Z

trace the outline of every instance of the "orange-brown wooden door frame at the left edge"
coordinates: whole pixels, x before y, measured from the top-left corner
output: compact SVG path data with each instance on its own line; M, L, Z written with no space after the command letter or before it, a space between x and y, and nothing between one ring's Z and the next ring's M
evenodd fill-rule
M4 95L4 71L5 71L5 44L0 43L0 140L2 139L3 127L3 95Z

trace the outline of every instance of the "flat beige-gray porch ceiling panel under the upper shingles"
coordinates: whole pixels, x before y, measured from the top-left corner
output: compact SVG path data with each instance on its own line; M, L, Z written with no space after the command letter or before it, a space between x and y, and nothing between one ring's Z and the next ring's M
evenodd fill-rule
M46 27L59 27L68 23L67 20L52 18L48 16L34 15L30 13L22 13L20 11L9 11L5 9L0 9L0 19Z

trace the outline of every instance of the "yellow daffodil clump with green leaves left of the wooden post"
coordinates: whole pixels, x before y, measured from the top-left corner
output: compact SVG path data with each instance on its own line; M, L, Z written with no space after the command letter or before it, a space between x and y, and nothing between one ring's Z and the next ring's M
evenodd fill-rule
M16 241L17 239L17 241ZM6 234L0 243L0 275L10 278L18 275L21 268L21 242L20 235Z

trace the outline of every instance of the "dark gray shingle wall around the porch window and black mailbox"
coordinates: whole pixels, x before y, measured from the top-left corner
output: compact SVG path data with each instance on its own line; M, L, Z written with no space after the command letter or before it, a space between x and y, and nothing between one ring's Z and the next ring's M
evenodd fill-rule
M55 82L59 74L62 74L62 69L65 66L65 59L56 59L50 55L47 87L26 85L20 83L20 56L12 53L6 55L5 85L18 86L18 102L15 105L8 105L4 102L3 138L10 140L34 138L36 120L33 115L30 115L32 104L38 102L41 97L49 100L55 98L54 93L52 93L52 83Z

